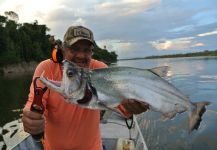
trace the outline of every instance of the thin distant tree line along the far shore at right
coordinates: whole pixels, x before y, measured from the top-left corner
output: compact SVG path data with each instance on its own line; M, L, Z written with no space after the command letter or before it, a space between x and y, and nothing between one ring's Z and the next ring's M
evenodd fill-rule
M174 54L174 55L162 55L162 56L148 56L145 59L153 59L153 58L176 58L176 57L199 57L199 56L217 56L217 50L208 51L205 50L203 52L194 52L187 54Z

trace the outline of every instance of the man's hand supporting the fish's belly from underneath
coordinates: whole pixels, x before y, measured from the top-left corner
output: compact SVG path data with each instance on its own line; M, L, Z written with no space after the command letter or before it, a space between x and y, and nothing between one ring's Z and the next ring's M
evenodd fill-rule
M123 116L129 118L133 114L140 114L147 111L149 104L134 99L125 99L117 106L117 109Z

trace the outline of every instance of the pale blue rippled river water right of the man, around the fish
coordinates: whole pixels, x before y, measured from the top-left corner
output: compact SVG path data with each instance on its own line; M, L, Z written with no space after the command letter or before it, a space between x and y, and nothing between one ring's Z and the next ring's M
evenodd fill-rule
M188 114L161 121L160 115L147 112L140 115L140 125L149 149L217 149L217 59L178 58L131 60L118 62L119 66L151 68L170 66L171 76L166 80L174 84L191 101L210 101L200 128L188 133Z

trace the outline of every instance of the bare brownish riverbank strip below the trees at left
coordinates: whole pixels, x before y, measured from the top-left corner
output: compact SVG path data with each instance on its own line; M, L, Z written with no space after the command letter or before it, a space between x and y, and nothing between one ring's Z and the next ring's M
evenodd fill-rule
M36 66L37 62L22 62L19 64L12 64L12 65L7 65L4 67L0 68L0 75L2 76L19 76L22 74L30 74L33 73Z

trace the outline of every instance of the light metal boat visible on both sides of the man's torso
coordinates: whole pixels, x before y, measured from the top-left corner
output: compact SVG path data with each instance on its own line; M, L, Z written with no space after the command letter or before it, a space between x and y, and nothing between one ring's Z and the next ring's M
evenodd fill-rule
M100 121L103 150L148 150L137 117L126 121L114 113ZM109 117L108 117L109 116ZM43 145L23 129L21 119L5 124L0 129L2 150L42 150Z

